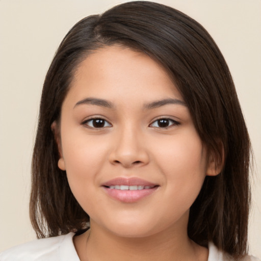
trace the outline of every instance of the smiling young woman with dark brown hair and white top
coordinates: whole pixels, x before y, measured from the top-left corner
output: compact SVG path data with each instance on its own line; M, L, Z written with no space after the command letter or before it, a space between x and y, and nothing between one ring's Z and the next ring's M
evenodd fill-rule
M129 2L65 36L32 167L38 238L1 260L255 260L250 142L229 69L192 18Z

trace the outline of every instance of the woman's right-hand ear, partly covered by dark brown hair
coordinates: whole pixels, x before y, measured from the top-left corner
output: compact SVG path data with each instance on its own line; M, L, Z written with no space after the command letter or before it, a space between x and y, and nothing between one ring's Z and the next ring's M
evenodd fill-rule
M208 157L206 176L217 176L222 171L225 161L225 151L222 142L220 142L219 151L220 155L217 155L214 151L210 152Z

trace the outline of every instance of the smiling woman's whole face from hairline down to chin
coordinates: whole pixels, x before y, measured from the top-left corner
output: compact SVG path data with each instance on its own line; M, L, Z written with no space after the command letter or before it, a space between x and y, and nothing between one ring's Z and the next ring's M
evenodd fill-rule
M129 48L96 50L74 75L60 128L58 165L91 227L127 237L187 229L212 170L162 66Z

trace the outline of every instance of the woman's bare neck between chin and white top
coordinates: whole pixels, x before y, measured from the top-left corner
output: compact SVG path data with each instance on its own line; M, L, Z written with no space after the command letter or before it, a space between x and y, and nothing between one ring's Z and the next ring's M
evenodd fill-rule
M74 245L81 261L206 261L208 250L190 240L186 230L180 230L184 228L129 238L91 223L90 230L74 238Z

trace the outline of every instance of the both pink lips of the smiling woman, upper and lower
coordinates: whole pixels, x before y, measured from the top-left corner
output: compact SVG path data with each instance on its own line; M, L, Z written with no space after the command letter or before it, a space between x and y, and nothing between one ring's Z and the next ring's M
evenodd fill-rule
M142 189L142 190L118 190L118 189L110 189L110 186L149 186L149 189ZM156 190L158 190L159 185L149 182L147 180L133 177L133 178L124 178L118 177L111 179L104 184L102 184L102 188L105 192L112 197L113 199L124 202L124 203L134 203L137 201L142 200L143 198L151 195Z

